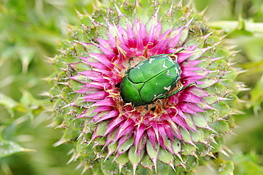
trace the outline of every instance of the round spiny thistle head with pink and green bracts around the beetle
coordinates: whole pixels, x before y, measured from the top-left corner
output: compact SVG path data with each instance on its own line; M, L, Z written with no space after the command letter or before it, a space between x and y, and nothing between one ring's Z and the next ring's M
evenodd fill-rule
M71 161L98 174L195 171L225 153L222 135L235 126L243 85L235 82L241 71L229 62L235 52L222 45L222 31L181 1L99 6L92 15L79 13L82 28L70 26L61 54L51 59L55 122L65 128L55 145L72 142ZM178 92L145 105L124 100L120 83L129 70L160 54L180 67L167 90Z

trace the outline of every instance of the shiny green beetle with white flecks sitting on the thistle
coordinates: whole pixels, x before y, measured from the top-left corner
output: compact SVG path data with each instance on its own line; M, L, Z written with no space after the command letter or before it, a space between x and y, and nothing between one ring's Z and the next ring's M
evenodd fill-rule
M153 55L127 70L119 85L122 100L132 102L134 107L149 105L187 88L189 85L181 85L177 90L172 90L181 78L180 65L177 59L173 59L177 58L176 53Z

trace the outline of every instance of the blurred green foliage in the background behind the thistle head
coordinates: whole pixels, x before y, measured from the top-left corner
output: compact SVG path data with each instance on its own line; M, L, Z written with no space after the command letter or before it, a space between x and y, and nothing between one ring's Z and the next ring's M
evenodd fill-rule
M240 105L243 115L235 115L236 135L226 137L232 150L226 159L234 161L235 174L263 174L262 0L193 2L198 11L207 8L208 23L230 31L225 42L240 51L232 62L247 70L238 81L250 90L240 93L246 102ZM61 130L50 126L53 116L43 112L48 106L43 94L50 88L44 79L53 73L48 58L58 54L56 42L66 38L68 24L79 25L76 10L92 13L92 3L97 2L0 1L0 174L81 174L77 162L67 164L70 144L53 147ZM6 145L11 152L2 151ZM198 173L216 174L208 167Z

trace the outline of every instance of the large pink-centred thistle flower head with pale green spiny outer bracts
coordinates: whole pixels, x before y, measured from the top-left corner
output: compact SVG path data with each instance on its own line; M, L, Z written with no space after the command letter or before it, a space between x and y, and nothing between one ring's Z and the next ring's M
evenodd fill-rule
M71 101L59 95L65 102L63 109L70 109L66 115L74 117L71 122L82 121L84 125L77 147L92 145L96 159L111 158L120 171L128 162L134 174L139 165L158 171L159 161L173 169L176 166L193 169L198 166L198 159L203 159L200 157L214 157L213 148L220 149L215 136L230 132L224 120L234 113L230 108L233 104L223 101L242 87L232 80L223 81L230 64L219 52L222 37L215 31L209 33L212 30L200 23L198 16L191 16L188 7L170 4L164 14L158 7L154 13L149 12L151 15L141 18L136 13L143 9L141 6L136 1L135 5L128 2L116 5L114 10L107 7L107 15L117 14L118 23L109 16L100 23L100 16L94 14L91 22L98 28L95 35L82 25L90 41L70 43L74 51L76 46L81 46L85 53L62 51L65 58L71 55L79 59L68 62L68 68L63 69L66 77L60 84L75 95ZM128 7L134 11L133 18L128 16ZM154 9L154 4L151 8ZM175 11L182 16L173 18ZM100 34L96 35L96 31ZM119 83L127 70L153 55L170 53L176 53L174 59L181 68L181 78L171 92L180 86L186 88L149 105L134 107L132 102L124 102ZM88 66L83 69L83 65ZM76 109L78 112L73 112ZM66 120L60 125L70 126L73 124ZM82 153L77 152L75 157ZM195 166L188 162L195 162Z

